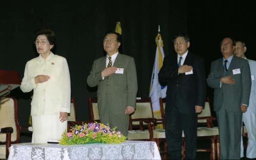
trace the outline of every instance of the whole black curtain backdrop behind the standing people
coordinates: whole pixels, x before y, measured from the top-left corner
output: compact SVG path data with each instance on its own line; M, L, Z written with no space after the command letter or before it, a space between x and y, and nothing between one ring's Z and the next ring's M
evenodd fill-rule
M3 3L3 2L2 2ZM86 81L92 63L103 55L102 39L121 21L122 54L134 57L138 76L138 97L149 94L155 59L158 25L165 55L174 54L172 37L177 32L190 35L189 50L210 62L221 58L220 41L226 35L244 40L246 56L254 59L255 9L252 1L29 1L4 2L0 9L0 69L16 70L23 78L25 64L38 54L33 44L40 26L51 28L57 38L54 54L67 59L71 76L71 96L75 98L77 119L88 120L88 98L97 88ZM18 100L19 123L28 126L30 93L19 88L11 92ZM212 90L207 89L212 98Z

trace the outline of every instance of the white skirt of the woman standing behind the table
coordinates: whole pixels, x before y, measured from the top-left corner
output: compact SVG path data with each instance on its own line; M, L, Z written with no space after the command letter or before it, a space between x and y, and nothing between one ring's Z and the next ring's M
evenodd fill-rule
M32 143L47 143L48 139L61 139L67 129L67 122L59 121L59 114L32 116Z

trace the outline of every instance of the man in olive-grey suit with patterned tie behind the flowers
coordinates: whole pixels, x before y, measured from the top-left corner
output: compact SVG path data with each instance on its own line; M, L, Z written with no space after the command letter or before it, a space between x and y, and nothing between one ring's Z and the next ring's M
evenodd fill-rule
M128 135L129 114L136 108L137 74L134 59L118 52L121 35L107 32L103 39L106 56L94 61L87 83L98 86L100 121Z

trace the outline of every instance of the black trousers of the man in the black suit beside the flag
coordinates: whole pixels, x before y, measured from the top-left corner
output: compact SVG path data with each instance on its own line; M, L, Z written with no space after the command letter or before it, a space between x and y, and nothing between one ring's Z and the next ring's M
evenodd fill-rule
M168 158L181 159L182 130L185 135L185 159L195 159L197 152L197 114L181 114L176 107L165 112L165 136Z

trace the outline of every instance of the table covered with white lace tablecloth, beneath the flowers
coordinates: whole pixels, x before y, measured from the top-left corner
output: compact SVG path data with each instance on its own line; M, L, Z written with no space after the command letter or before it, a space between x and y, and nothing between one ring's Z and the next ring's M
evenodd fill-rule
M8 159L161 159L156 142L120 144L12 144Z

